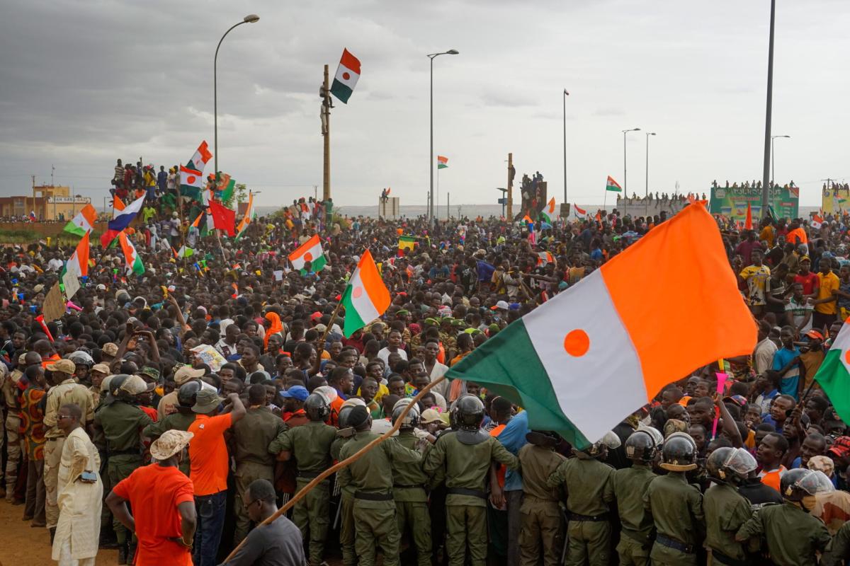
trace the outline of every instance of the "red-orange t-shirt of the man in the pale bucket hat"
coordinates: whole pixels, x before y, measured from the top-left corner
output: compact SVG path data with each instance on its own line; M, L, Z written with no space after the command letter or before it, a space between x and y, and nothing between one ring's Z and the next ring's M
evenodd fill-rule
M178 468L150 464L137 468L113 488L130 502L136 521L136 564L139 566L191 566L188 548L170 538L183 536L177 506L195 502L192 482Z

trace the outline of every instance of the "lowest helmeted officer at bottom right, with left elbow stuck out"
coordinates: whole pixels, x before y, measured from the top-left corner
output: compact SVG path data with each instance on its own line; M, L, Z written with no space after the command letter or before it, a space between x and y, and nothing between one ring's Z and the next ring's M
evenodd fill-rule
M817 552L824 552L831 540L826 525L809 514L814 494L822 489L817 474L804 468L785 472L779 479L785 502L760 508L741 526L735 540L763 536L770 560L779 566L817 563Z

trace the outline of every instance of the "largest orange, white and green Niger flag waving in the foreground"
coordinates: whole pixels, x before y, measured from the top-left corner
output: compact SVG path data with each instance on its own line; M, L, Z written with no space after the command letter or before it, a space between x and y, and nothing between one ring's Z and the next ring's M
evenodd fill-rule
M696 313L699 313L697 315ZM702 205L649 231L446 373L529 412L531 429L587 446L666 384L751 354L756 324Z

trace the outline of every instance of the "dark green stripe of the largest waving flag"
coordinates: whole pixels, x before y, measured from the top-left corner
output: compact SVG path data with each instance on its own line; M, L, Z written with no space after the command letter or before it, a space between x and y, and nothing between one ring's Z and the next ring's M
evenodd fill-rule
M561 411L552 382L522 319L473 350L445 375L481 384L522 406L529 412L531 429L554 430L573 446L590 444Z

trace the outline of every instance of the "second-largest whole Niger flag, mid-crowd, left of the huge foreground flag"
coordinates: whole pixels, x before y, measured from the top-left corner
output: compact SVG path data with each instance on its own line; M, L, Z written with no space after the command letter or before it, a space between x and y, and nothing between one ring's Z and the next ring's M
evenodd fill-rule
M360 256L360 263L348 280L342 301L345 308L343 334L346 338L351 338L352 334L387 310L389 291L368 249Z

